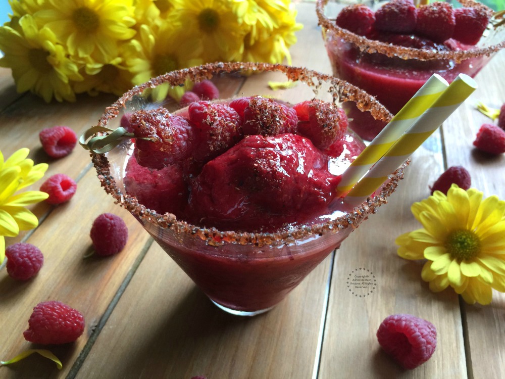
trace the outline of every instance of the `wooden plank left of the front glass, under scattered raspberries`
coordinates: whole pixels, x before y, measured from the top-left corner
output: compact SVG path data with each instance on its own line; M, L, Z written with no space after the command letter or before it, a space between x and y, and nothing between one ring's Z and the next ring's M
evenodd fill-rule
M91 224L104 212L112 212L125 220L128 244L118 255L83 259L91 249ZM42 301L59 300L81 311L86 322L84 334L74 344L51 347L63 362L62 371L53 362L34 355L1 367L1 376L64 377L148 241L150 238L141 225L114 204L100 187L96 172L89 170L72 200L56 207L27 241L44 254L44 264L37 276L28 282L19 282L9 277L5 269L0 271L0 310L3 330L9 331L3 334L0 359L7 360L34 348L24 340L23 330L28 327L32 308Z

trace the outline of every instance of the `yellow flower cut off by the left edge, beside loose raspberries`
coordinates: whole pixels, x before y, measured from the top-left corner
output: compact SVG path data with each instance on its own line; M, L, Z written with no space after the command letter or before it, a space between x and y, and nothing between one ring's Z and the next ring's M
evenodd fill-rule
M47 170L46 163L33 165L27 159L28 149L20 149L4 162L0 151L0 263L5 258L5 237L15 237L20 230L30 230L38 225L37 217L25 207L47 199L40 191L25 191L22 188L33 184Z

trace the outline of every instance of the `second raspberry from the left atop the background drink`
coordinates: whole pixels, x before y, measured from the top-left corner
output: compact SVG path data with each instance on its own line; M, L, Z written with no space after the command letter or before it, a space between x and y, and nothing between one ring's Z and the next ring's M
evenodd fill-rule
M410 0L393 0L375 12L376 30L412 33L416 29L417 8Z

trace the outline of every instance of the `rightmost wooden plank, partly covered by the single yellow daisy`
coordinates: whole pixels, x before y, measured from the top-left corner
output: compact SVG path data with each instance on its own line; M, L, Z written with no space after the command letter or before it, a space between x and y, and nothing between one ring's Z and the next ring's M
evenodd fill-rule
M501 200L505 200L505 155L483 154L474 149L472 143L480 125L491 122L475 109L475 104L480 101L499 108L505 103L505 87L498 79L502 77L504 64L505 51L501 51L476 76L479 87L458 109L457 117L444 125L447 166L466 167L473 187L482 191L484 197L497 195ZM463 300L462 303L468 328L470 376L476 379L505 377L505 294L493 291L493 301L487 306L468 305Z

